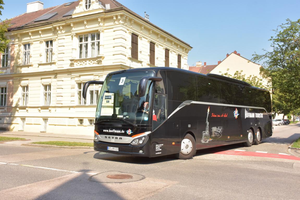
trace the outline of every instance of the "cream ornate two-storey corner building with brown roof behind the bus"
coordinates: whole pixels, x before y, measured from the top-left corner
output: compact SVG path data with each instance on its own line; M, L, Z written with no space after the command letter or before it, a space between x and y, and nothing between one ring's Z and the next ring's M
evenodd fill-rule
M107 73L136 67L187 69L191 46L113 0L81 0L43 9L27 4L7 32L1 55L0 128L92 135Z

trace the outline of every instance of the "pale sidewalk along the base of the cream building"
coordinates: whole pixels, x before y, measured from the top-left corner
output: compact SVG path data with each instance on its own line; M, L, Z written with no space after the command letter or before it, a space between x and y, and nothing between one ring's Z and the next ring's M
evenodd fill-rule
M57 134L57 133L41 133L41 132L23 132L23 131L0 131L2 137L18 137L25 138L26 141L9 141L4 142L10 145L22 145L31 142L44 141L64 141L64 142L89 142L93 143L93 135L72 135L72 134Z

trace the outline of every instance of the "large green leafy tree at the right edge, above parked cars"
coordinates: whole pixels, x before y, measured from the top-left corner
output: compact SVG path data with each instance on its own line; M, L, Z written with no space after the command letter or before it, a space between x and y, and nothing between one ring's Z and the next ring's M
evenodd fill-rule
M272 51L263 49L265 54L253 54L253 60L263 61L276 105L285 109L282 112L295 111L300 108L300 19L286 19L273 31L276 35L269 39Z

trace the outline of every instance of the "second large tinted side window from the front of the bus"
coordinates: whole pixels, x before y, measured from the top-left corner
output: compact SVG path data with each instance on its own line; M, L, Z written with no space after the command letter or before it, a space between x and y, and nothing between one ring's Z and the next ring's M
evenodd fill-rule
M197 76L198 101L220 103L220 81Z

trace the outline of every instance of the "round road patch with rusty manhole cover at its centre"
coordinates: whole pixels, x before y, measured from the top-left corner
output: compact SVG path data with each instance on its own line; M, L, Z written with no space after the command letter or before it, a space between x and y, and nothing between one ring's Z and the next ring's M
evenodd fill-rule
M91 176L88 180L99 183L126 183L143 180L145 176L134 173L109 171Z

